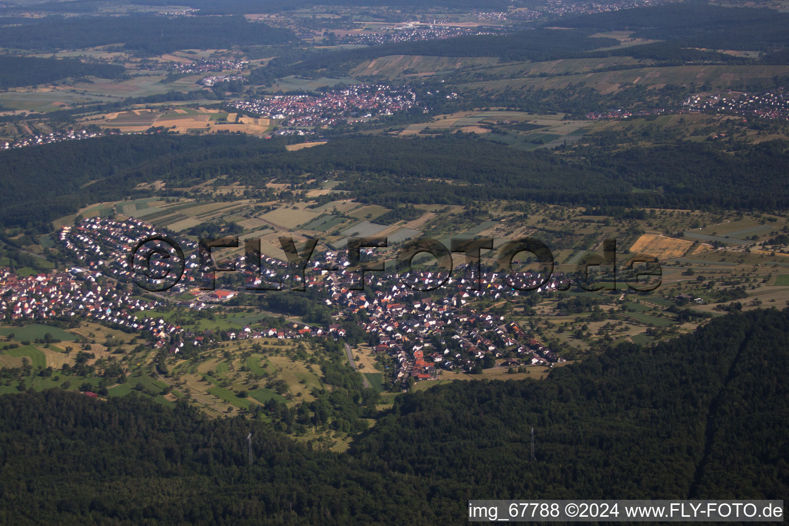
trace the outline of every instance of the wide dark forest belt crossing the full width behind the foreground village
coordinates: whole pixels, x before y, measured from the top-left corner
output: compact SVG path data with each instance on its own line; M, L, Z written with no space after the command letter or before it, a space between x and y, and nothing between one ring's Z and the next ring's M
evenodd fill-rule
M282 140L236 135L109 136L36 148L35 156L0 152L6 173L0 192L10 203L0 210L0 224L6 227L30 223L47 231L48 222L89 203L144 196L133 188L147 181L185 187L226 175L264 188L271 177L300 183L304 173L337 170L344 179L338 188L387 207L480 200L760 210L789 206L789 144L781 140L744 147L735 155L698 143L624 151L588 147L559 155L518 151L469 136L346 137L292 152ZM759 170L754 172L754 166Z

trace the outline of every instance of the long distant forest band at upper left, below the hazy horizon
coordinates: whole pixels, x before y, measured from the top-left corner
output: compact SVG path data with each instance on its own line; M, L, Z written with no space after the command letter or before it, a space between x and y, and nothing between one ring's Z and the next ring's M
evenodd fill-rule
M3 28L0 47L23 50L80 49L122 43L143 55L184 49L287 43L287 29L251 24L244 17L45 17Z

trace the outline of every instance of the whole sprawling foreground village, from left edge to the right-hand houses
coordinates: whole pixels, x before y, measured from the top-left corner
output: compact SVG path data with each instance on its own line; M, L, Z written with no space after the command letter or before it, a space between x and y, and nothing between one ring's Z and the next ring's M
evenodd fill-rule
M159 300L143 300L131 285L136 274L127 256L136 241L156 234L153 226L133 218L122 221L86 218L77 226L63 227L58 241L80 266L28 278L2 270L0 313L9 323L84 316L126 332L140 332L148 338L152 348L165 348L172 354L180 353L185 347L210 349L218 341L338 339L346 337L349 330L361 330L376 353L394 360L391 382L404 384L412 378L437 379L439 369L477 372L481 371L482 364L525 367L564 361L518 323L507 322L503 315L474 308L474 300L479 298L498 300L518 295L519 291L503 284L496 274L477 277L473 270L466 270L460 278L447 280L445 289L428 295L407 286L403 278L413 279L422 286L431 285L438 277L429 271L406 276L367 273L364 290L358 290L361 279L351 270L347 258L338 252L325 251L313 256L303 282L286 263L261 255L260 267L264 270L240 274L243 279L239 289L206 290L200 285L204 283L204 272L211 272L211 267L201 264L193 241L179 240L189 252L188 256L185 252L185 261L173 258L163 263L164 259L151 258L151 267L183 265L186 270L183 279L166 293L157 294ZM245 268L244 258L234 258L237 268ZM222 261L219 265L226 267L228 263L231 262ZM545 281L539 273L528 272L515 274L514 279L518 288ZM553 276L538 290L557 289L563 286L562 280L560 275ZM155 278L148 278L149 283L155 281ZM238 293L244 288L259 288L264 281L292 282L304 285L305 289L320 290L323 304L334 312L335 323L325 326L300 322L278 326L250 324L239 326L237 330L196 331L167 323L155 315L141 319L136 315L140 311L148 314L164 305L191 311L219 311L223 304L238 300ZM503 359L506 361L497 364L497 360Z

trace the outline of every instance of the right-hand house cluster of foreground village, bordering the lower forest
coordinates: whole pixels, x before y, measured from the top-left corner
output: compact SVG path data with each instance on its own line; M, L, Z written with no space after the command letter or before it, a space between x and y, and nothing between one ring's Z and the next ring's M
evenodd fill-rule
M429 272L409 275L365 275L365 290L353 290L359 285L347 267L330 274L326 267L337 268L342 259L334 252L318 256L315 270L322 265L323 279L307 278L306 286L325 290L325 303L338 308L344 318L361 315L361 329L377 341L374 349L387 353L398 363L395 379L435 379L436 368L471 371L477 361L488 353L495 358L505 354L520 365L552 364L564 361L522 330L517 323L507 323L503 315L493 315L473 308L473 298L499 299L516 296L519 291L503 284L496 274L483 274L478 280L473 272L460 278L450 278L440 294L426 297L403 281L429 285L436 277ZM315 263L313 263L315 264ZM340 267L342 267L341 263ZM313 271L313 276L316 274ZM539 274L514 275L519 287L536 285ZM470 288L469 289L469 285ZM551 278L541 290L563 287L561 277Z

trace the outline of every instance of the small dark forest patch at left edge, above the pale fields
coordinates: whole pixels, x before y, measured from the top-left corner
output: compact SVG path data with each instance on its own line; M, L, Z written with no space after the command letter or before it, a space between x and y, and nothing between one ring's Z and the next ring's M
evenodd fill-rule
M86 64L76 58L0 57L0 88L44 84L69 76L117 79L125 73L122 65Z

